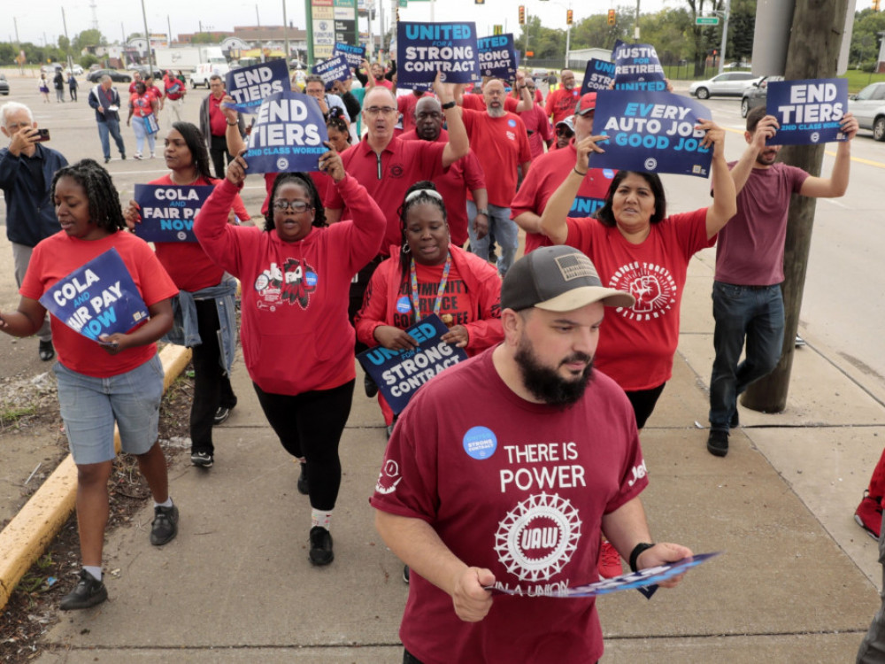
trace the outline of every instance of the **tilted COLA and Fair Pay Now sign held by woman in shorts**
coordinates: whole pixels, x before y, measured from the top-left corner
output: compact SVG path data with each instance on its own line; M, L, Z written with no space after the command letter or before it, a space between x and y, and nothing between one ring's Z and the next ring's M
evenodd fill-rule
M128 332L148 318L148 307L113 247L58 280L43 293L40 304L93 341Z

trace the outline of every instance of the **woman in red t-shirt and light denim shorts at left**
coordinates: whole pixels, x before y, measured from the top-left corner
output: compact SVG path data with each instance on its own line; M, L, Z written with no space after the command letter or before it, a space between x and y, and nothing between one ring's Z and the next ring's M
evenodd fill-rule
M101 336L101 344L51 317L58 362L58 402L77 465L77 524L83 569L61 608L81 609L107 599L102 547L108 520L108 479L114 424L123 452L135 455L154 498L150 544L166 544L178 532L178 507L169 498L165 456L157 441L163 367L155 342L172 327L171 298L178 289L150 247L126 228L111 176L92 159L60 169L52 181L61 231L34 248L21 284L18 311L0 313L0 330L33 335L46 309L40 297L90 260L115 249L135 282L150 317L125 334Z

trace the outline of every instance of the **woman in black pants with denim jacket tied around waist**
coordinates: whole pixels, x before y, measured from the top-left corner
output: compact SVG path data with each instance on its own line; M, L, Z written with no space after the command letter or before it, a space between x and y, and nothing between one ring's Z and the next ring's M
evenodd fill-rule
M165 137L163 156L170 173L149 184L214 186L219 183L209 171L209 151L203 134L190 122L173 123ZM138 204L129 201L124 212L129 228L141 222L139 211ZM239 195L234 199L231 217L234 214L240 221L250 219ZM154 247L160 264L179 288L179 297L173 302L179 331L170 341L186 345L194 353L190 462L210 468L215 462L212 426L226 421L236 405L230 385L236 346L236 280L215 265L198 243L157 242ZM184 315L185 312L196 313L196 329L184 327L186 321L193 320ZM219 344L219 335L222 344Z

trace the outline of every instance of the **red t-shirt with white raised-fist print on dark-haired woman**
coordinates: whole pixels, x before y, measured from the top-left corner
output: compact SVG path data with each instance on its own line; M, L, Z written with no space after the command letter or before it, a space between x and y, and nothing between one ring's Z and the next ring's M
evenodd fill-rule
M630 309L606 309L594 358L624 390L649 390L673 374L689 260L716 243L716 235L707 239L706 216L706 208L673 214L651 224L640 244L596 219L566 218L566 244L589 256L605 286L636 298Z

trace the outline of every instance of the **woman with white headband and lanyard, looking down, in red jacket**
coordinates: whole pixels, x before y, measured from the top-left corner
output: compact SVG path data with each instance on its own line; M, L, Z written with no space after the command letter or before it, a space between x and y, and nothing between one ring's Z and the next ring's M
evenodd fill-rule
M450 242L442 195L433 182L416 182L400 208L403 243L375 273L354 323L363 344L391 351L415 348L405 333L436 313L449 327L443 341L468 355L504 339L501 327L501 278L488 262ZM423 297L421 297L423 296ZM378 395L388 436L394 414Z

